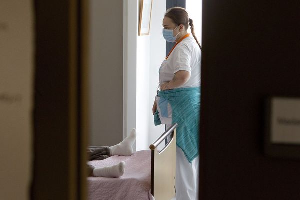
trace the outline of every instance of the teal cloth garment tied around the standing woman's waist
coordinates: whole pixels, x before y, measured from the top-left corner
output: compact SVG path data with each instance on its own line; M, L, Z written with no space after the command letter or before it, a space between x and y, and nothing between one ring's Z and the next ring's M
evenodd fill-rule
M159 91L158 96L171 104L172 124L178 124L177 146L191 163L199 155L200 87ZM154 124L161 124L158 110L154 114Z

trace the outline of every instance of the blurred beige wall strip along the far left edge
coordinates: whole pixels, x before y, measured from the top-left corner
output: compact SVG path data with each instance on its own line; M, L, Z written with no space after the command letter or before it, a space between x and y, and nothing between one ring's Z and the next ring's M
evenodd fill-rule
M0 199L29 199L34 69L33 3L0 6Z

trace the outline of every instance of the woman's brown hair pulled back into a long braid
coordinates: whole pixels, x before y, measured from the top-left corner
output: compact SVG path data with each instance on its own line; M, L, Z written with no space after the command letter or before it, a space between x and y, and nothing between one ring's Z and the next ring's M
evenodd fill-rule
M182 24L186 29L188 29L188 25L190 26L191 29L191 34L196 40L197 44L199 45L200 49L202 50L202 47L195 35L194 31L194 25L193 25L193 20L188 17L188 13L186 9L182 7L172 7L166 10L165 17L168 17L173 20L173 22L178 26Z

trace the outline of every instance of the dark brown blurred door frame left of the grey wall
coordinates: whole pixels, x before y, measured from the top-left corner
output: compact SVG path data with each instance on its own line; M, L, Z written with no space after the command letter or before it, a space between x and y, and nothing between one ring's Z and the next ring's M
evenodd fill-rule
M87 31L88 2L33 2L36 51L31 199L86 199L88 95L82 92L87 92L88 68L82 66L88 48L82 38Z

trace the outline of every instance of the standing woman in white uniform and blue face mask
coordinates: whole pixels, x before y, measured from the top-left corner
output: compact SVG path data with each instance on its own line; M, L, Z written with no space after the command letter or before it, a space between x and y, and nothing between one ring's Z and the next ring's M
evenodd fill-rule
M187 29L190 26L192 36ZM166 11L163 36L176 42L159 68L153 104L155 125L177 127L176 200L198 199L201 46L184 8Z

